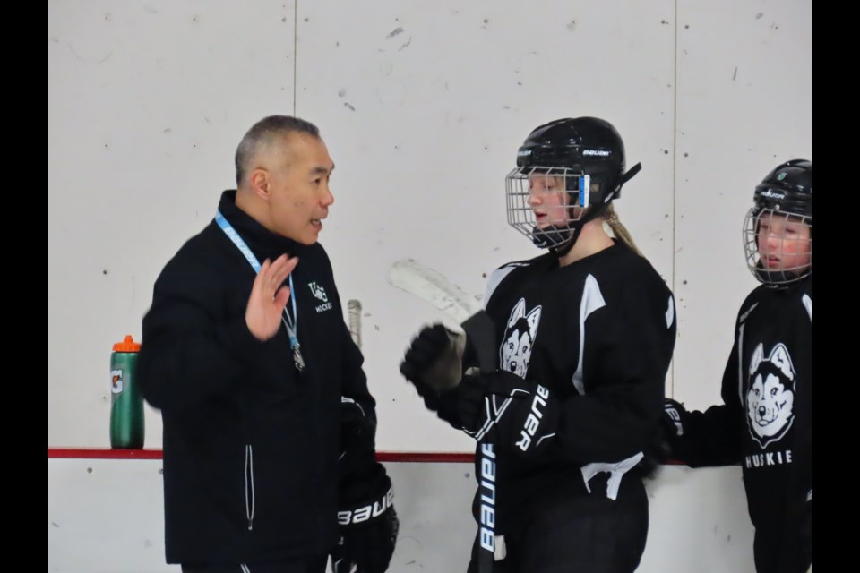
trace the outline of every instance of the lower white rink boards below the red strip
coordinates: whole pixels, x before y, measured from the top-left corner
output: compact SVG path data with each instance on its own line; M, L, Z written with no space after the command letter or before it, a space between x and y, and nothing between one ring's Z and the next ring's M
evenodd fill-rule
M476 526L472 465L386 462L400 535L390 573L464 573ZM164 563L161 460L49 459L47 569L178 573ZM740 467L664 466L647 483L641 573L754 573Z

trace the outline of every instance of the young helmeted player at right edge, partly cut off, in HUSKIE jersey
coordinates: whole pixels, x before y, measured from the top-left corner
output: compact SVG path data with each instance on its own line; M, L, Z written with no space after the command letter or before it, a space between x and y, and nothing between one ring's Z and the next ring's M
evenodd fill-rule
M813 525L813 164L783 163L756 186L744 250L761 282L735 322L723 404L667 400L670 455L740 464L759 573L803 572Z

